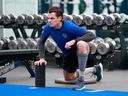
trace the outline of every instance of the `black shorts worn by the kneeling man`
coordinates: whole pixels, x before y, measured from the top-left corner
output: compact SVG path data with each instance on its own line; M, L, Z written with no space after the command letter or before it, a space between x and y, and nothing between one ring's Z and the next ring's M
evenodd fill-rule
M73 49L71 54L64 57L63 69L69 73L73 73L78 68L78 57L76 49Z

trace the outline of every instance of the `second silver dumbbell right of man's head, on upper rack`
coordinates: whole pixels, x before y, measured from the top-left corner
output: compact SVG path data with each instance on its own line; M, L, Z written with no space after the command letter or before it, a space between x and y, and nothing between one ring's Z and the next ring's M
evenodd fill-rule
M84 22L83 22L83 17L81 15L78 15L78 14L73 14L73 22L77 25L83 25Z

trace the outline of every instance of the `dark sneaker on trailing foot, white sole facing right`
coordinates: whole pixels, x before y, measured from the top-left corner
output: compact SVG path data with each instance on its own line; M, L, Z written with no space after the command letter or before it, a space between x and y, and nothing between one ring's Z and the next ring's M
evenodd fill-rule
M94 66L96 68L96 72L93 74L97 76L97 81L100 81L103 78L103 65L100 63Z

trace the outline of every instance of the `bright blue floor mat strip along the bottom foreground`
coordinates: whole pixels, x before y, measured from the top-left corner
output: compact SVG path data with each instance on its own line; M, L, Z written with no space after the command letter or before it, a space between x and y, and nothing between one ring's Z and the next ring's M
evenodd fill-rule
M72 90L62 87L37 88L26 85L0 84L0 96L128 96L126 91Z

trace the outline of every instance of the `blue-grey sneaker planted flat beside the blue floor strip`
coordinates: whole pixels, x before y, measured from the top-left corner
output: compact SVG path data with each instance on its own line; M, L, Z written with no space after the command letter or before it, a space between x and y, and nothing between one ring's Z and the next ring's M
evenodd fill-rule
M83 90L85 89L85 81L78 78L75 87L73 88L73 90Z

